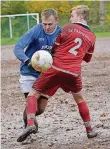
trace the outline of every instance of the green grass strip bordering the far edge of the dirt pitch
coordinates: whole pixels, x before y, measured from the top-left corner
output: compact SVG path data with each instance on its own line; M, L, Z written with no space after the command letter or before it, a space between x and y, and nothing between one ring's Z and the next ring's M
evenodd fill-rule
M95 33L96 37L110 37L110 32L97 32ZM1 39L1 45L11 45L16 44L17 40L19 38L2 38Z

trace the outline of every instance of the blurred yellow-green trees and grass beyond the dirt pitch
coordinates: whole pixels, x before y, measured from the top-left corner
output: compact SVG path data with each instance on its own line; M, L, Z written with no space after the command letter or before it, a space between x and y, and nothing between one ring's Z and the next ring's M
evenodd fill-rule
M1 1L1 44L15 44L26 31L41 22L40 14L46 8L58 11L59 25L69 23L70 10L76 5L89 6L89 26L97 37L110 37L110 1ZM22 16L32 13L38 13L39 17Z

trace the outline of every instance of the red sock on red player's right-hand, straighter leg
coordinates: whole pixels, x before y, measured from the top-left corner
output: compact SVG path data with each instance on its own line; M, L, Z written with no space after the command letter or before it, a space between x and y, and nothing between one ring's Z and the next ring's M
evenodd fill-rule
M86 131L89 132L92 130L91 126L90 126L90 113L89 113L89 108L86 104L85 101L81 102L78 104L78 108L79 108L79 113L81 118L83 119L84 123L88 123L89 126L85 126L86 127Z

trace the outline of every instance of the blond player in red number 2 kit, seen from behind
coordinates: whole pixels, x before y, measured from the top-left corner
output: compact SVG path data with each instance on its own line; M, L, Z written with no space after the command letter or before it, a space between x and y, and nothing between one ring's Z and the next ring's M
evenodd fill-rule
M43 95L53 96L58 88L71 92L84 122L87 137L93 138L97 133L90 123L90 113L82 95L81 63L89 62L94 52L96 37L87 25L89 8L80 5L72 8L70 21L72 24L63 26L53 46L53 65L43 72L35 81L33 90L26 102L27 128L19 136L22 142L31 133L36 133L35 113L38 110L38 98Z

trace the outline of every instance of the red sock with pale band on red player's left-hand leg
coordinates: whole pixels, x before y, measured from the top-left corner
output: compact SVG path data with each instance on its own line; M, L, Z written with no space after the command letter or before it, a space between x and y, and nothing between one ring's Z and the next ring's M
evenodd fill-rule
M26 102L27 125L34 124L34 117L37 110L37 99L35 96L28 96Z

